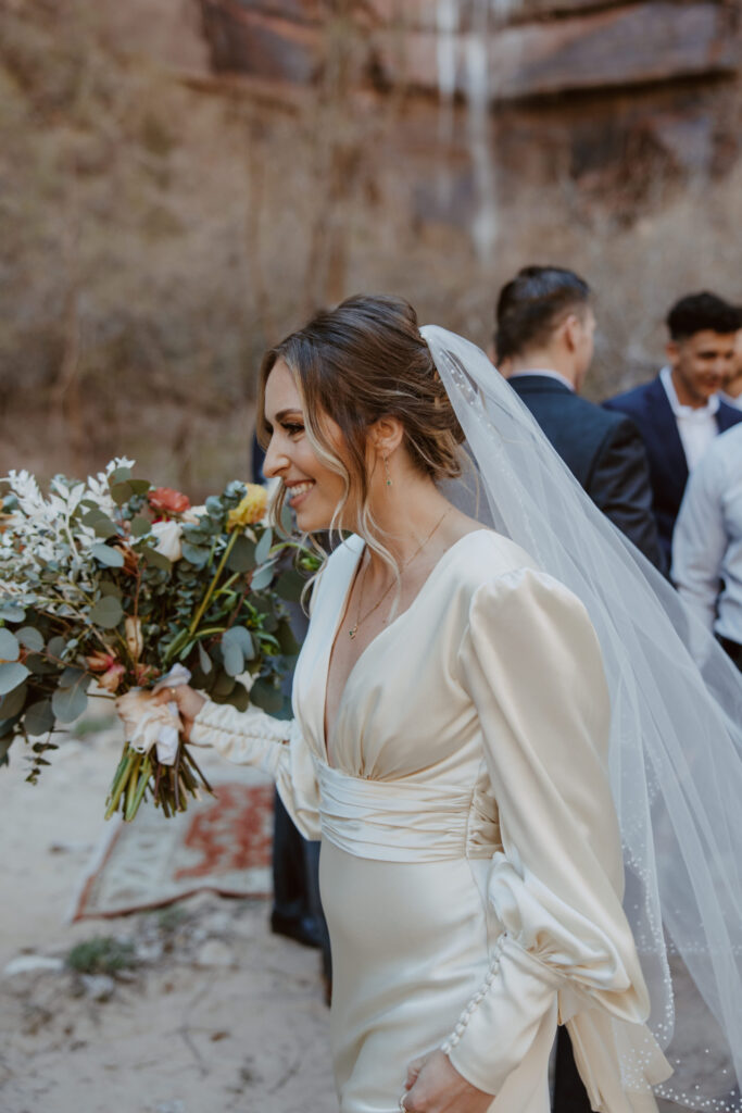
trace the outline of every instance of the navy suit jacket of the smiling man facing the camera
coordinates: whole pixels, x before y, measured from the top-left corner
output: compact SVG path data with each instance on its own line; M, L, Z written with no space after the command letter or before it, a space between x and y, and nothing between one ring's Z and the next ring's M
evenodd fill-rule
M667 567L672 556L672 532L687 483L687 461L677 422L660 376L633 391L609 398L603 405L627 414L639 429L650 461L654 516ZM716 426L724 433L742 421L742 412L725 402L716 411Z

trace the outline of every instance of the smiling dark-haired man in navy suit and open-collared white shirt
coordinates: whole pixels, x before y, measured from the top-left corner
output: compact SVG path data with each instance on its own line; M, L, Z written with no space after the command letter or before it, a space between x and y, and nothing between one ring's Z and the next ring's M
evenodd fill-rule
M636 424L650 461L654 515L667 563L687 476L713 439L742 421L719 391L732 374L740 311L715 294L690 294L667 314L667 364L656 378L604 402Z

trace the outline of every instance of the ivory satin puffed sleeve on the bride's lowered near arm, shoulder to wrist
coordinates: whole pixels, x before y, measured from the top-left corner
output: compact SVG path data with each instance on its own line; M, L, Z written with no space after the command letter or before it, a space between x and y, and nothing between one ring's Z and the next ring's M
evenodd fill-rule
M555 995L563 1020L597 1008L631 1024L645 1020L649 997L621 905L611 708L584 607L540 572L498 578L474 595L458 664L484 736L503 850L488 878L499 937L444 1051L465 1078L497 1094Z

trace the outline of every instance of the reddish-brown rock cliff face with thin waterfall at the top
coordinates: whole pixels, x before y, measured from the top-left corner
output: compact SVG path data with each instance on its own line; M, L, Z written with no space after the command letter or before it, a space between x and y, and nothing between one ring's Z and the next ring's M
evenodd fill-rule
M484 149L501 205L525 179L576 186L578 205L606 206L624 220L652 207L660 183L664 194L670 183L712 178L739 156L735 0L501 0L498 12L487 0L200 2L214 68L291 102L337 65L342 36L353 40L345 81L357 110L370 102L383 111L396 99L414 115L414 139L399 122L397 141L386 141L393 161L414 146L421 215L436 209L458 223L468 208L475 217ZM443 134L442 92L451 100ZM467 119L472 99L489 107L484 130L482 117L474 127ZM436 199L428 187L442 142L456 183Z

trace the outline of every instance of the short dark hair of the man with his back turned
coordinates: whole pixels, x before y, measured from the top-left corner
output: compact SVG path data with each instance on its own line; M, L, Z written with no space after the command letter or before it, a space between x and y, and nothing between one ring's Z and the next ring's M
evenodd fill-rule
M523 267L499 292L495 352L498 359L546 344L570 313L584 312L590 286L563 267Z

